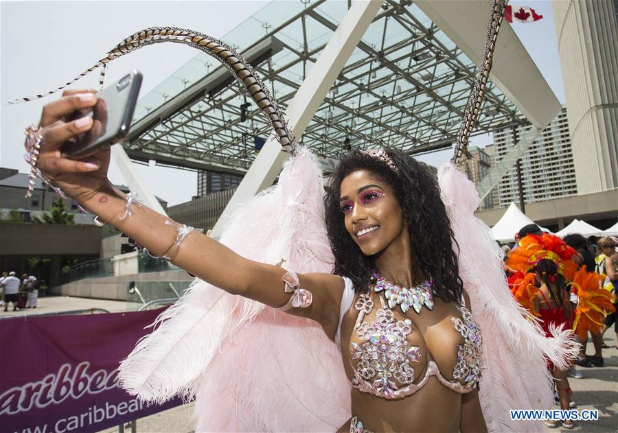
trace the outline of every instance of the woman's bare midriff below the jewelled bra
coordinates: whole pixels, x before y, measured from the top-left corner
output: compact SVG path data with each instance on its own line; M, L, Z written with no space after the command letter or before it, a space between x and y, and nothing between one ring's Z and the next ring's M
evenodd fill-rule
M458 432L461 394L430 377L417 393L386 400L352 388L352 416L371 432ZM348 432L350 421L338 432Z

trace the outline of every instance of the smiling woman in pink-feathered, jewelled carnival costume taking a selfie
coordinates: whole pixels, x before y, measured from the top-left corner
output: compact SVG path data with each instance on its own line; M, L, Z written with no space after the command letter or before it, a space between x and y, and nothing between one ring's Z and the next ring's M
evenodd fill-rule
M577 348L564 329L546 338L505 290L501 250L474 218L479 196L455 166L467 155L503 10L494 0L453 164L436 179L397 150L352 151L326 200L316 159L231 47L153 27L110 51L100 65L168 40L206 51L293 154L220 242L117 191L108 148L62 157L92 127L64 119L94 106L93 92L47 104L28 131L32 176L197 276L122 362L124 388L155 402L194 397L198 431L537 431L509 410L548 406L551 376L540 366L547 357L563 368ZM517 371L522 358L529 365Z

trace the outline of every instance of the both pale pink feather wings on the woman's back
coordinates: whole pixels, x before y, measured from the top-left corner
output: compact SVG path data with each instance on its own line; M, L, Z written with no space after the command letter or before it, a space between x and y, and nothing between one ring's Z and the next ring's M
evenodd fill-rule
M565 366L576 354L572 335L552 329L555 338L545 338L512 298L501 251L474 218L474 185L447 165L440 187L461 248L461 277L483 331L485 421L492 432L538 430L538 423L510 421L508 410L551 405L545 356ZM266 263L286 259L284 266L298 272L330 272L322 195L319 167L302 151L276 187L235 213L221 242ZM326 431L350 416L341 354L310 320L196 279L155 325L122 362L121 382L148 401L195 397L198 431Z

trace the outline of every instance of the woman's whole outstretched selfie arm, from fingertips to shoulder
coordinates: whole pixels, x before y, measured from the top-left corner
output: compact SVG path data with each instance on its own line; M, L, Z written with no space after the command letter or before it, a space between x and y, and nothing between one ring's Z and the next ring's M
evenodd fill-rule
M241 257L200 233L188 235L180 246L176 246L178 224L146 206L135 202L128 204L125 194L107 178L108 147L99 148L83 161L63 157L63 150L75 137L97 127L89 117L74 121L66 119L71 118L76 110L90 108L95 103L93 91L67 91L61 100L45 106L41 116L43 141L38 156L41 172L82 207L98 215L99 220L112 224L152 255L167 255L176 266L231 294L271 307L286 305L293 296L290 290L284 290L286 270ZM334 338L343 279L332 274L299 274L298 279L300 288L311 295L304 296L305 305L309 298L312 301L302 308L292 307L288 312L316 320Z

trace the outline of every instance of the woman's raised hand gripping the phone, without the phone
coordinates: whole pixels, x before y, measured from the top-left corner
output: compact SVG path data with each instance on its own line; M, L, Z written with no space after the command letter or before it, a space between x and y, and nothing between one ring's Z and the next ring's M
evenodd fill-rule
M103 128L99 120L87 116L93 109L100 110L99 118L105 115L101 110L106 107L97 104L96 93L91 89L65 91L60 100L46 104L41 113L43 142L37 166L56 187L81 204L109 183L109 145L94 149L78 161L66 157L83 134L100 134Z

